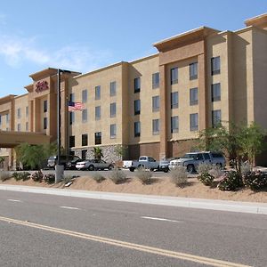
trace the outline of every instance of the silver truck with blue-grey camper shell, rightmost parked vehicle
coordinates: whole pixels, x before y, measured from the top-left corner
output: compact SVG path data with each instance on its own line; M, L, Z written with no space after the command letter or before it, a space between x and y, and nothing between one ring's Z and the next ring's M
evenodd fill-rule
M187 171L191 174L196 172L197 166L200 163L214 164L217 166L225 166L225 158L223 154L218 152L191 152L186 153L183 157L170 161L169 168L173 169L175 166L185 166Z

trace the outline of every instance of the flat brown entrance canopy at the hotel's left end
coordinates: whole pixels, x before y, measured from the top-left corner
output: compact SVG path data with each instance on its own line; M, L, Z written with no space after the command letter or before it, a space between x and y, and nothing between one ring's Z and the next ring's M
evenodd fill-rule
M49 143L50 136L39 133L0 131L0 148L14 148L22 142L29 144Z

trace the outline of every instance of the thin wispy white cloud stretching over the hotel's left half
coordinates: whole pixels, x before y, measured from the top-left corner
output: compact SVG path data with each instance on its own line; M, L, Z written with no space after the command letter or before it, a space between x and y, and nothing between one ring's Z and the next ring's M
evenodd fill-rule
M38 47L36 37L18 38L0 35L0 56L3 56L5 63L14 69L26 63L34 63L38 68L53 67L85 72L107 64L111 53L93 51L81 44L71 44L48 51Z

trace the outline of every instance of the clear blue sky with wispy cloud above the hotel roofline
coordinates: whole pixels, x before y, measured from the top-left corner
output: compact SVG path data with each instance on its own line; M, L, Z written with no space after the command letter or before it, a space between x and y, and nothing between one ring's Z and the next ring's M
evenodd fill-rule
M267 0L5 0L0 2L0 98L27 93L48 67L88 72L133 61L162 39L200 26L244 28Z

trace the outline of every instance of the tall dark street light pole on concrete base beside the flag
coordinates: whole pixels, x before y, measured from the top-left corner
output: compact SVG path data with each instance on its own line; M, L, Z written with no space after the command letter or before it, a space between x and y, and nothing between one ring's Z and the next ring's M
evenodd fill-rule
M61 165L61 73L71 73L67 69L58 69L58 95L57 95L57 165L55 166L55 182L61 182L64 174L64 166ZM68 125L67 125L68 126Z

